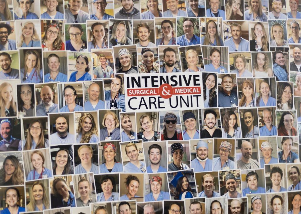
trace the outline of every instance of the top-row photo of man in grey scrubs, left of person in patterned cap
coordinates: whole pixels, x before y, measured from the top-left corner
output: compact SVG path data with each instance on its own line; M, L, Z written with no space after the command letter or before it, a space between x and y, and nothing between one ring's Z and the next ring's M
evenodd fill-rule
M86 0L69 0L69 8L65 9L66 23L86 23L86 20L90 20L89 13L81 10L83 1L87 4Z

